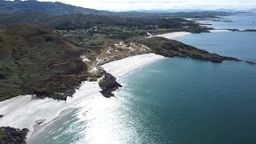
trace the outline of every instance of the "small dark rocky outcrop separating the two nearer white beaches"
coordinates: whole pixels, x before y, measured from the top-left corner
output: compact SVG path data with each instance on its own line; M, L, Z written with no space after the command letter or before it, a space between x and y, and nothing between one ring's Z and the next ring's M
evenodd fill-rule
M102 74L103 78L98 82L98 85L102 88L100 92L106 98L114 97L112 92L118 90L122 85L117 82L117 78L112 74L106 73L105 70L102 70Z

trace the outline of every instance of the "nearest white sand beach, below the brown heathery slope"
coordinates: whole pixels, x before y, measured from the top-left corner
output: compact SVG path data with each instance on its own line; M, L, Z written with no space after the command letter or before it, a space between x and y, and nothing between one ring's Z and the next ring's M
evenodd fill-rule
M73 98L67 98L67 101L57 101L51 98L39 99L31 95L18 96L4 102L0 102L0 114L4 117L0 119L0 126L11 126L15 128L28 128L33 133L33 126L38 120L50 122L60 114L62 110L81 102L94 94L100 94L101 89L97 82L83 82L79 90L76 91Z

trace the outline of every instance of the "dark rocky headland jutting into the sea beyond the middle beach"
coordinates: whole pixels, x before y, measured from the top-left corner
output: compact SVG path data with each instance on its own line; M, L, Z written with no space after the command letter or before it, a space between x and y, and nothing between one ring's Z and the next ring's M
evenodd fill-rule
M134 39L133 39L134 40ZM206 50L200 50L194 46L186 45L182 42L162 37L154 38L138 38L134 40L136 43L142 43L154 52L167 58L193 58L202 61L209 61L215 63L222 63L223 61L235 61L240 62L242 60L238 58L225 57L218 54L211 54Z

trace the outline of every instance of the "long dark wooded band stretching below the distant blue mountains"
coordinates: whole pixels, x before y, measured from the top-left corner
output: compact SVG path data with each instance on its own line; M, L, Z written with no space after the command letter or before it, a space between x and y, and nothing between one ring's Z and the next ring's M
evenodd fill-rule
M89 29L93 26L119 26L134 30L173 29L183 26L198 26L182 18L120 18L95 14L70 14L53 16L50 14L0 14L0 25L39 24L56 30Z

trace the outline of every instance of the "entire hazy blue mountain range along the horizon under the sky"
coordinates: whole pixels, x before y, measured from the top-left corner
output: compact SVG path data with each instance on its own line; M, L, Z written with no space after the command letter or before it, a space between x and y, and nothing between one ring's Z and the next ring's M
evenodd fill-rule
M185 10L186 11L186 10ZM217 15L227 15L230 13L221 11L130 11L130 12L110 12L106 10L94 10L79 6L71 6L62 2L38 2L36 0L21 1L0 1L0 14L97 14L118 16L122 18L214 18Z

